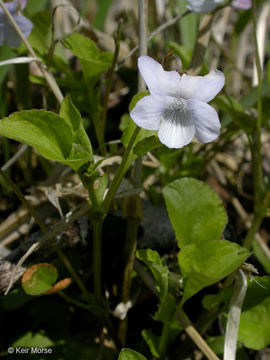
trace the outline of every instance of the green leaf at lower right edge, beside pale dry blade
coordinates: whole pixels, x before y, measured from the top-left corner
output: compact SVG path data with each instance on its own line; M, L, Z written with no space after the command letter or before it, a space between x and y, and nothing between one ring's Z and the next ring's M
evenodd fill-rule
M269 289L270 276L255 276L249 280L238 334L238 340L247 348L261 350L270 344Z

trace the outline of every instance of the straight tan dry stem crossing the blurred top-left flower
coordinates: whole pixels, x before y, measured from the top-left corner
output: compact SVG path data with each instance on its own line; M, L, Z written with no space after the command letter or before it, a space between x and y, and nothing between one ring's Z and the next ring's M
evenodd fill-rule
M19 28L19 26L17 25L16 21L13 19L12 15L10 14L10 12L8 11L8 9L5 7L5 4L3 3L2 0L0 0L0 6L3 9L4 13L6 14L6 16L8 17L9 21L11 22L12 26L14 27L15 31L17 32L17 34L19 35L19 37L21 38L22 42L24 43L24 45L26 46L29 54L33 57L33 58L37 58L36 53L34 52L33 48L31 47L31 45L29 44L29 42L27 41L27 39L25 38L25 36L23 35L21 29ZM63 95L61 90L59 89L54 77L52 76L52 74L49 72L49 70L45 67L45 65L42 63L42 61L37 61L37 65L40 69L40 71L43 73L44 78L46 79L48 85L50 86L52 92L54 93L56 99L59 101L59 103L62 102L63 100Z

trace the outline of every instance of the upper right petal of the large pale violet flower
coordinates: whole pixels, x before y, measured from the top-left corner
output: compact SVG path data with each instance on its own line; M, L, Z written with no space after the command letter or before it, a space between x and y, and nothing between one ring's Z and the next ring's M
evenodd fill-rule
M198 99L204 102L212 100L223 88L224 74L219 70L212 70L205 76L181 77L180 96L184 99Z

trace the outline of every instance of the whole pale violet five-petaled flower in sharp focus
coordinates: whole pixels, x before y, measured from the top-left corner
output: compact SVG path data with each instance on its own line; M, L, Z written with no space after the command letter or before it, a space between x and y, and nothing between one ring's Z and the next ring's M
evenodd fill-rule
M219 136L216 110L207 104L224 86L221 71L205 76L180 75L165 71L149 56L141 56L138 66L150 95L140 99L130 116L143 129L158 130L160 141L169 148L182 148L194 135L203 143Z

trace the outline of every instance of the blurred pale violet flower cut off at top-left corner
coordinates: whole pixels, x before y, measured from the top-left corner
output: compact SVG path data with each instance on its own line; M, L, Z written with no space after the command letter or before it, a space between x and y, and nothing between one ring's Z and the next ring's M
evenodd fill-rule
M5 6L18 24L24 36L28 37L33 28L33 24L25 16L17 14L17 2L17 0L8 2L5 3ZM3 45L3 43L7 43L8 45L14 47L19 47L21 39L4 13L3 9L0 8L0 45Z

